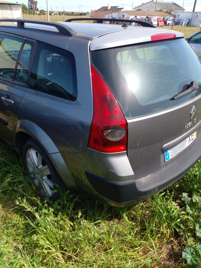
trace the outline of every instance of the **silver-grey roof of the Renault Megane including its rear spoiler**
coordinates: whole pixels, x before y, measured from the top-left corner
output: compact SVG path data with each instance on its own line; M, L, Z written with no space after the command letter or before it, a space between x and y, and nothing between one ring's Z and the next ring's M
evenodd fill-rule
M21 20L23 22L23 20ZM139 27L139 26L127 26L122 27L122 25L115 24L101 24L101 23L80 23L80 22L59 22L53 23L51 25L40 24L36 21L30 21L31 23L24 23L24 31L28 29L33 29L36 31L46 31L59 33L59 29L55 28L60 25L72 31L74 34L72 37L79 37L91 40L90 50L106 49L109 47L117 47L128 44L136 44L143 42L150 42L152 35L168 34L174 33L177 38L183 38L184 34L181 32L167 30L167 29L157 29L150 27ZM55 27L54 27L55 25ZM17 23L12 25L1 25L1 27L17 27ZM16 32L17 33L17 32ZM60 32L62 34L62 32Z

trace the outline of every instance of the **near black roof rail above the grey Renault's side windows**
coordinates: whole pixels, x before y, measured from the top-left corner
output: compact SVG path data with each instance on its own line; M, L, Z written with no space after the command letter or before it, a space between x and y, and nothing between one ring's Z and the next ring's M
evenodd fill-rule
M49 25L57 28L59 33L61 35L66 35L66 36L75 36L77 33L70 28L69 26L65 24L60 24L57 22L51 22L51 21L41 21L41 20L24 20L24 19L0 19L0 22L17 22L17 27L18 28L26 28L25 23L33 23L33 24L41 24L41 25Z

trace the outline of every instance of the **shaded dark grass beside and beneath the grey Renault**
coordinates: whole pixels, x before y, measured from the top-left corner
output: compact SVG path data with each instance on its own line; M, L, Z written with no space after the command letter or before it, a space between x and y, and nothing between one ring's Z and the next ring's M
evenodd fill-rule
M62 192L61 198L56 202L43 200L25 172L22 159L13 149L3 143L0 144L0 165L0 204L5 210L21 210L16 207L16 200L26 199L32 206L48 204L54 209L54 213L69 215L70 219L81 213L85 220L97 222L111 221L133 207L111 207L72 191Z

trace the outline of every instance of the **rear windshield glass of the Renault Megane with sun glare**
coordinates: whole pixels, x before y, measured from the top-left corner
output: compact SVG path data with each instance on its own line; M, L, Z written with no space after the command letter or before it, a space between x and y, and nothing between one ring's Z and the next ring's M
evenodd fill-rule
M201 92L201 62L183 38L91 51L91 62L126 119L169 109ZM172 99L193 81L197 90Z

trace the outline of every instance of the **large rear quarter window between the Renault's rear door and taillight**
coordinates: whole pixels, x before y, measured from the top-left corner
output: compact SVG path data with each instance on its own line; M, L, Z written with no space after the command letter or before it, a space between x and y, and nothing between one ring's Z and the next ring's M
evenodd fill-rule
M75 101L77 78L73 54L38 42L29 87L49 95Z

